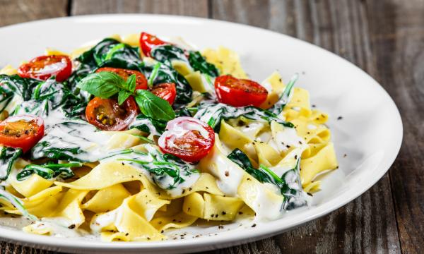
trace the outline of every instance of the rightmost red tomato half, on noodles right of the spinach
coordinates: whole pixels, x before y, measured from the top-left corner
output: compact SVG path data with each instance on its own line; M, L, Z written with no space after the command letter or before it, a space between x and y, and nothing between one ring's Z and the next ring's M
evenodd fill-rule
M234 107L259 107L268 96L268 91L258 83L234 78L232 75L220 75L216 78L215 91L219 102Z

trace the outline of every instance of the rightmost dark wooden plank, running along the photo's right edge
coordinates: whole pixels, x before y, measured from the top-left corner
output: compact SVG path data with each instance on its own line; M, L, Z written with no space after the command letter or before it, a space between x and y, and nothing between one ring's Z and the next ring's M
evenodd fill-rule
M404 143L390 171L403 253L424 252L424 2L367 1L382 85L404 121Z

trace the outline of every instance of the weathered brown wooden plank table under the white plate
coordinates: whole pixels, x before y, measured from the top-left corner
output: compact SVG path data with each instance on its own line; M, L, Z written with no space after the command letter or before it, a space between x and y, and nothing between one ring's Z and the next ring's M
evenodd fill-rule
M370 73L401 111L401 152L369 191L293 231L210 253L424 253L423 0L0 0L0 26L93 13L199 16L298 37ZM0 248L50 253L10 243Z

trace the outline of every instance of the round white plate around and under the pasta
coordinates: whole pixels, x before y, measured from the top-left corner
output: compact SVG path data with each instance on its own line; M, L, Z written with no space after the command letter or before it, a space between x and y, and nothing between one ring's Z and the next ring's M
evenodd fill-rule
M102 15L57 18L0 28L0 67L43 54L46 47L70 52L81 44L112 34L145 30L181 36L200 48L223 45L240 53L254 80L279 70L287 81L300 73L298 86L310 91L312 104L331 116L328 125L340 168L324 177L323 191L309 209L275 222L230 231L202 228L211 236L150 243L102 243L25 234L1 227L0 237L55 250L99 253L179 253L223 248L259 240L322 217L357 198L375 184L394 162L402 140L399 111L386 91L367 73L324 49L247 25L201 18L157 15ZM338 116L343 119L336 120ZM346 154L346 157L343 156Z

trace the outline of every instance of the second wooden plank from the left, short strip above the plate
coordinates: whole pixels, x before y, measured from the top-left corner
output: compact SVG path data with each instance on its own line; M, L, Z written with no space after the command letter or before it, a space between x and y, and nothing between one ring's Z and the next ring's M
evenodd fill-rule
M95 13L156 13L208 16L207 0L73 0L71 15Z

